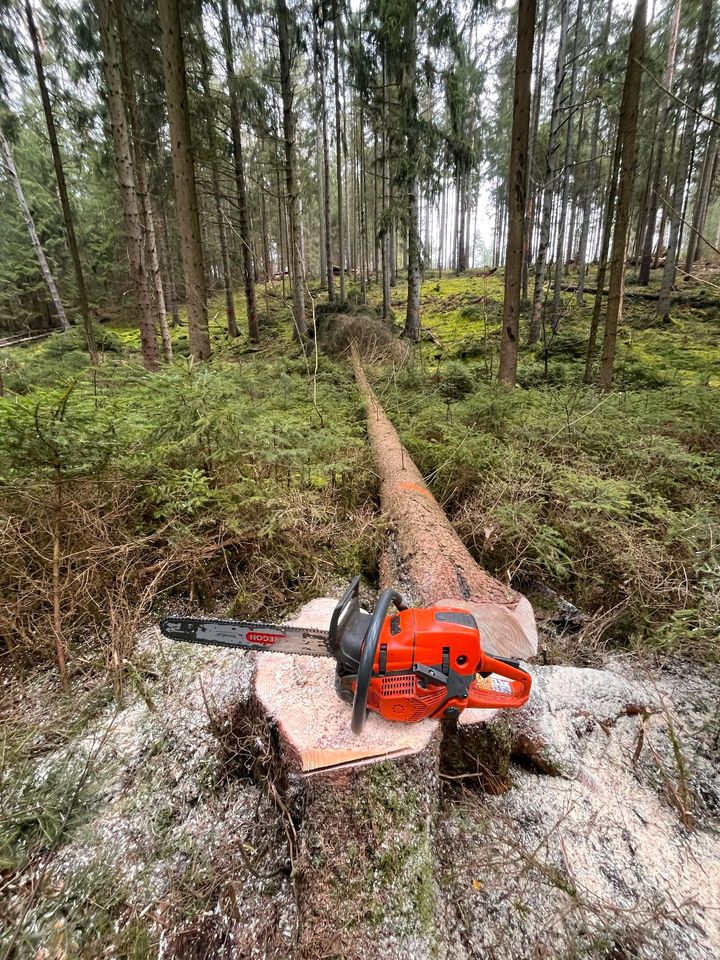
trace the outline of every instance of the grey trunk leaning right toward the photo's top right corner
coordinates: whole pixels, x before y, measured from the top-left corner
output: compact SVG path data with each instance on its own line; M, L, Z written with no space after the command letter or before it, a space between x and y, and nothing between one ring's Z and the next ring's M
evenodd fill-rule
M683 196L685 194L690 170L695 120L700 106L700 92L705 70L705 57L710 33L712 6L712 0L702 0L695 50L693 51L690 92L687 98L688 106L685 113L682 137L680 138L680 149L678 151L678 163L675 173L675 183L673 184L672 200L670 201L670 209L668 210L668 216L670 218L670 239L668 241L667 257L665 258L660 298L657 304L657 316L661 317L665 322L668 322L670 319L670 295L675 283L677 258L680 254Z

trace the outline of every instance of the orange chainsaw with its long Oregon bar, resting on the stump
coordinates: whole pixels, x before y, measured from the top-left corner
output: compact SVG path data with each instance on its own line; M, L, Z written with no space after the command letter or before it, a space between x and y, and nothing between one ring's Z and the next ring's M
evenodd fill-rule
M352 706L359 734L368 710L386 720L415 723L457 719L466 707L521 707L532 678L515 660L491 657L480 645L475 618L448 604L411 608L384 590L372 614L360 607L355 577L333 611L328 631L292 624L167 617L172 640L334 657L335 689ZM390 613L391 607L395 613Z

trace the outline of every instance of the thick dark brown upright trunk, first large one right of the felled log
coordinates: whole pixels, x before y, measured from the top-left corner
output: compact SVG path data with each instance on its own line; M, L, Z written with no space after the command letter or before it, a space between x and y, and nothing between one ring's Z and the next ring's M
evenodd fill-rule
M535 38L535 0L518 4L515 93L508 175L508 239L505 251L505 299L498 380L512 387L517 373L520 332L520 293L524 260L525 191L530 137L530 78Z

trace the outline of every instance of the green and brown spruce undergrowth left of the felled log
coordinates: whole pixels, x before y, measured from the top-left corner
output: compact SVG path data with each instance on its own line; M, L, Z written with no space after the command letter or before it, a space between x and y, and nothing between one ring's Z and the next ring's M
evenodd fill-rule
M323 358L314 386L297 351L78 371L61 343L69 373L50 376L51 341L0 403L0 636L18 666L60 642L72 667L87 638L118 672L174 597L281 615L372 577L380 524L343 366Z

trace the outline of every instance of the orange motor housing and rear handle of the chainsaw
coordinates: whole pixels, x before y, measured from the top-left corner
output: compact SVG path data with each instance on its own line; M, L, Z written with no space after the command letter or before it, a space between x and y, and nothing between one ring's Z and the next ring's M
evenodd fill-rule
M483 651L466 609L406 609L387 616L381 628L367 708L386 720L414 723L457 716L466 707L520 707L531 683L514 662Z

